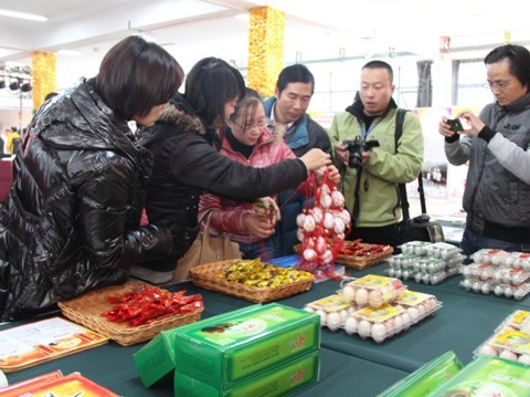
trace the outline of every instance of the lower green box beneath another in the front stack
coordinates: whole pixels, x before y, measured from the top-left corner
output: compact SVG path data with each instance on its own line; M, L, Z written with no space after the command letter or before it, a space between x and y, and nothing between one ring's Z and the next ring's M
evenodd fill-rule
M187 375L174 373L174 396L268 397L286 396L318 382L320 352L314 351L257 374L222 390Z

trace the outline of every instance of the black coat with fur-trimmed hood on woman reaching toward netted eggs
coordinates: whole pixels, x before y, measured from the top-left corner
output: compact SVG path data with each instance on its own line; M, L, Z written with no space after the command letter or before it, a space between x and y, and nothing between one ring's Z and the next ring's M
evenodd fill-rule
M176 268L198 234L203 191L253 200L296 187L307 178L300 159L254 168L221 155L212 145L214 139L216 132L204 128L182 97L168 106L155 127L142 132L139 144L155 157L147 215L150 222L171 228L174 249L166 260L140 265L160 271Z

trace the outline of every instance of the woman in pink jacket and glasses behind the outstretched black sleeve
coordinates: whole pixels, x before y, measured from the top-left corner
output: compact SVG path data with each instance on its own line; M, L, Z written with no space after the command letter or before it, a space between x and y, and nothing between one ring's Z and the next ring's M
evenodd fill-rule
M265 116L258 94L247 88L246 95L237 102L234 113L227 122L220 153L241 164L265 167L296 155L279 137L268 129L269 121ZM335 176L339 177L338 170ZM338 182L338 180L336 180ZM275 206L274 197L266 205ZM199 218L210 215L210 230L213 233L225 232L231 240L240 244L243 259L262 258L271 260L274 255L274 241L277 217L262 213L251 202L240 202L221 198L212 194L201 196Z

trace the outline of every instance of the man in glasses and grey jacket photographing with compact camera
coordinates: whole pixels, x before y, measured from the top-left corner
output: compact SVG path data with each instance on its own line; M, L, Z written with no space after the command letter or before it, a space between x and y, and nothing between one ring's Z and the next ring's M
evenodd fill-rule
M495 103L477 117L457 115L464 130L439 123L451 164L469 163L463 253L483 249L530 251L530 52L507 44L486 55L487 84Z

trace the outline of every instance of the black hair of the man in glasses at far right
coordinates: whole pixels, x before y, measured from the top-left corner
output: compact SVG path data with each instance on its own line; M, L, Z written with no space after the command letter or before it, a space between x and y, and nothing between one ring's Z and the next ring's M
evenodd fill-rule
M500 45L486 55L484 63L489 65L504 60L510 62L510 73L530 90L530 51L522 45Z

